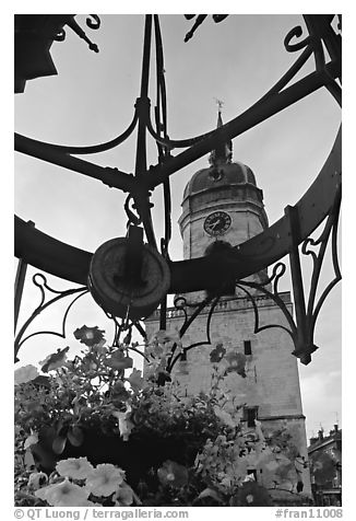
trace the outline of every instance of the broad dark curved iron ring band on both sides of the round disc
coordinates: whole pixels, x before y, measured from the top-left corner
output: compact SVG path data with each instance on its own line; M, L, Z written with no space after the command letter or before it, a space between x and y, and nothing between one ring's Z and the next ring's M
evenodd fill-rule
M330 213L341 183L341 129L316 181L296 204L300 217L301 240L308 238ZM284 216L268 230L218 258L200 257L169 263L169 293L200 291L212 281L212 274L230 270L242 279L277 262L288 253L288 222ZM15 256L38 269L76 283L86 283L92 254L64 244L37 229L28 229L15 217Z

